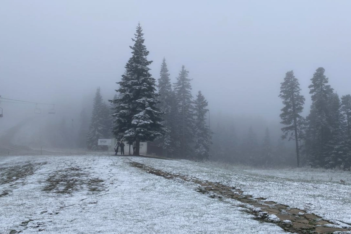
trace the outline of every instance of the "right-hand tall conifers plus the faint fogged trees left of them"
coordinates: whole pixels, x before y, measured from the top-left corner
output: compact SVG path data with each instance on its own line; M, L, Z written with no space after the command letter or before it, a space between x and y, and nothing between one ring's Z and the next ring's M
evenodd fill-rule
M328 85L324 68L319 67L309 85L312 104L310 114L301 113L305 98L293 71L286 73L279 97L284 127L282 140L271 140L266 128L262 138L253 127L238 135L230 121L219 121L213 130L213 156L218 160L253 166L312 166L348 169L351 166L351 95L339 98ZM260 129L261 130L261 129Z

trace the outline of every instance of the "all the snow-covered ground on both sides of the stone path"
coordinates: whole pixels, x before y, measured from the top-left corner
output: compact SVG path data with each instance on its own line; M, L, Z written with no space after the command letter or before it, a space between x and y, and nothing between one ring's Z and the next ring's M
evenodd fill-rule
M132 156L13 156L0 157L0 233L286 233L252 219L238 201L212 199L196 192L198 185L148 174L131 161L351 222L351 174L345 172Z

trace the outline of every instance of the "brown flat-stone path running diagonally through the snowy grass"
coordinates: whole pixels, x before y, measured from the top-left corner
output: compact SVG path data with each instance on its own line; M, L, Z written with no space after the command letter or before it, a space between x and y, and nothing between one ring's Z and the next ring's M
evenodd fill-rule
M244 203L242 207L246 208L246 211L253 214L256 219L275 223L287 232L306 234L346 232L351 230L349 225L345 225L345 228L333 227L336 226L335 223L325 220L318 215L307 213L305 210L291 208L273 201L265 201L265 198L253 198L251 195L243 195L243 191L235 187L228 187L216 182L190 178L179 173L173 174L163 172L138 162L131 162L131 165L166 179L179 178L197 183L200 185L197 192L209 194L212 198L238 200Z

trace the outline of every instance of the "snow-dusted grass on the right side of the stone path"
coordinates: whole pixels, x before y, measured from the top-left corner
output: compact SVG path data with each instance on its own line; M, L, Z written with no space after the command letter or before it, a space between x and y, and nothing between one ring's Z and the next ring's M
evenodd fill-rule
M260 170L213 162L135 160L163 171L238 187L244 194L305 209L329 220L351 223L350 172L311 168Z

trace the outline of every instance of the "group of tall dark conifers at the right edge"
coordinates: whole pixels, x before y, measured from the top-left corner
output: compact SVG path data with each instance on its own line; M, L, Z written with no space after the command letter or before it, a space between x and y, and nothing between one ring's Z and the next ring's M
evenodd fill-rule
M351 166L351 95L339 98L328 85L324 68L319 67L309 85L312 104L310 114L301 116L305 98L293 71L286 73L280 88L283 100L284 137L296 143L297 165L326 168ZM301 155L300 155L301 153Z

